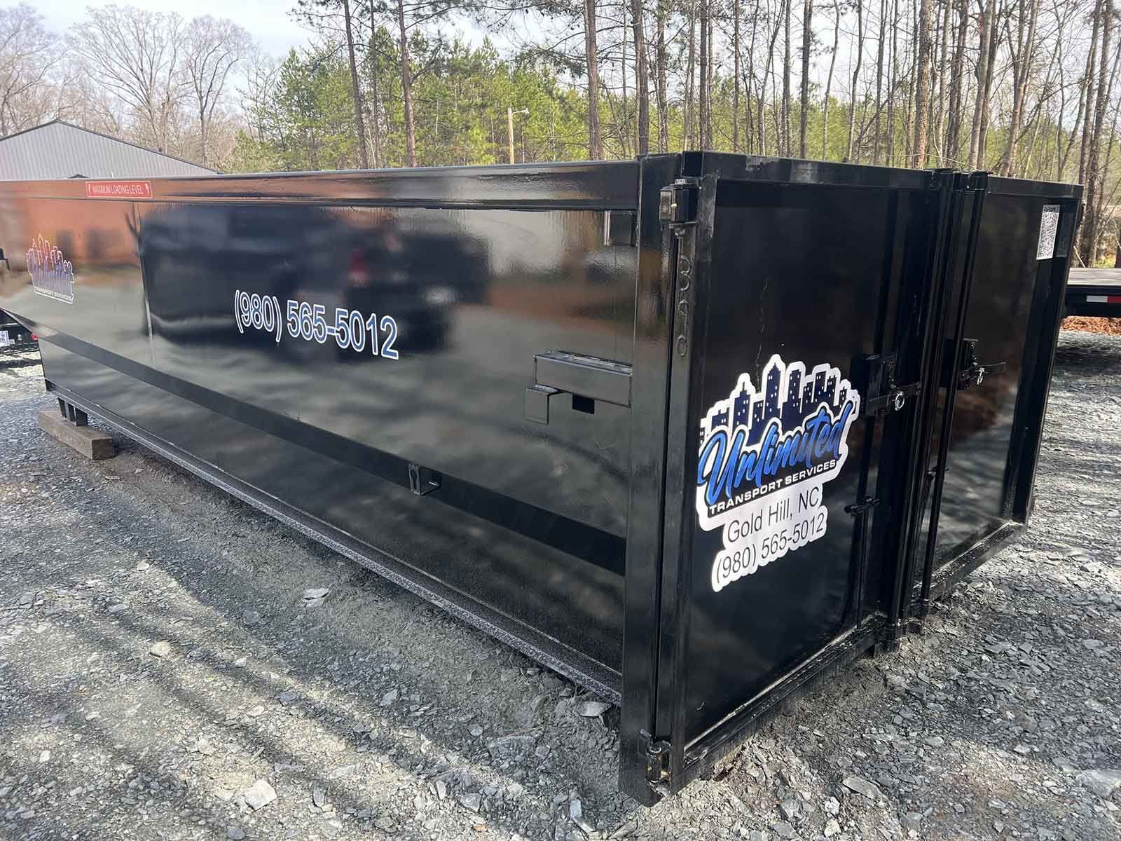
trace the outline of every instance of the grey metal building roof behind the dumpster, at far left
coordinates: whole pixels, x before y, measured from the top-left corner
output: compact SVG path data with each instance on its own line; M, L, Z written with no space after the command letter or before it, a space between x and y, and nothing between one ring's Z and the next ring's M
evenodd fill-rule
M214 173L62 120L0 138L0 181L159 178Z

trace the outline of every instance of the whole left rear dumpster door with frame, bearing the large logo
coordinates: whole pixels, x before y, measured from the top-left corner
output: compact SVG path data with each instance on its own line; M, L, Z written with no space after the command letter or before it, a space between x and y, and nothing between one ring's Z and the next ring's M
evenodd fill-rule
M949 195L933 173L697 168L674 223L648 768L667 791L883 626Z

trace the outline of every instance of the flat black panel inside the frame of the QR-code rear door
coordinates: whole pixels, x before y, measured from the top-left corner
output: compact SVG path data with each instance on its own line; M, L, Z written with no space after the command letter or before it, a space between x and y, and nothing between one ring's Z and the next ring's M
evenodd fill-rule
M1025 373L1035 376L1040 325L1054 305L1048 298L1060 294L1053 264L1066 259L1074 228L1074 202L1017 193L1015 182L992 181L972 278L965 278L965 286L961 276L955 278L954 306L964 292L966 308L960 334L947 333L957 362L952 376L943 377L953 394L953 417L933 547L935 571L1025 516L1015 510L1012 481L1022 449L1035 442L1025 442L1027 420L1018 420L1018 412L1031 394Z

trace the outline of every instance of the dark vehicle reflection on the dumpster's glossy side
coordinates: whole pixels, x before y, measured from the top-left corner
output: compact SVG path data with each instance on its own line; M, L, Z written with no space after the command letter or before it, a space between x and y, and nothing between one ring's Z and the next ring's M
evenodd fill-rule
M138 250L152 333L233 336L240 289L323 304L327 312L391 313L399 346L442 346L448 307L480 294L473 277L481 272L462 270L466 248L452 237L437 248L388 216L351 213L185 205L148 215Z

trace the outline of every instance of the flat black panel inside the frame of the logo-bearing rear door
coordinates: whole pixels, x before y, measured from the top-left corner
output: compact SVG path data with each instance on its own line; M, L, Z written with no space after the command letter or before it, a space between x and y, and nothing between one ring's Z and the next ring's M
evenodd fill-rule
M902 493L881 452L912 406L868 417L865 371L870 357L915 364L914 280L936 228L916 175L874 191L719 182L686 443L686 743L883 607L877 557Z

